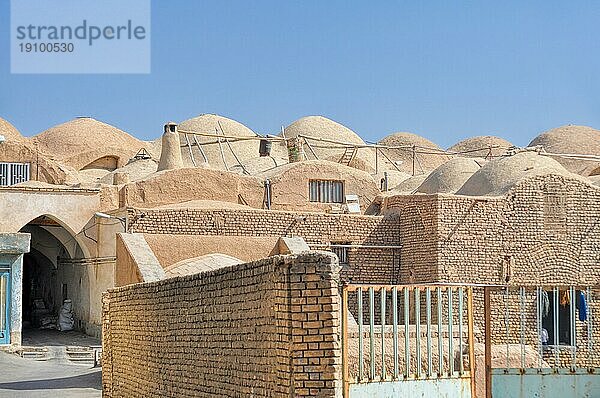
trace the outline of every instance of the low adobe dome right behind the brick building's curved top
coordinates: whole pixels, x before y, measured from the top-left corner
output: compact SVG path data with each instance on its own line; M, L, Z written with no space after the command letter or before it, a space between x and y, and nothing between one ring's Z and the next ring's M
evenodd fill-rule
M576 177L551 157L524 151L490 161L475 172L456 193L468 196L502 196L519 181L545 174Z

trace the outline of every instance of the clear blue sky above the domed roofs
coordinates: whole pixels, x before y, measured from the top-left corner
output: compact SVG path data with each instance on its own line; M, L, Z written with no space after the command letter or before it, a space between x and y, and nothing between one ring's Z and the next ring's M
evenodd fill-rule
M320 114L443 147L600 128L598 2L153 1L148 75L11 75L0 4L0 117L25 135L85 115L151 139L201 113L258 133Z

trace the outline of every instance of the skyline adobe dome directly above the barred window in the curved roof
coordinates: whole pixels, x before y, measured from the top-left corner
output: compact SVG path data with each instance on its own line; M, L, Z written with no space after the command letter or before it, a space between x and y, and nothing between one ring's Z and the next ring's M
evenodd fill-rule
M293 138L298 135L304 135L314 138L323 138L327 140L337 141L343 144L365 145L365 142L348 127L341 125L331 119L323 116L305 116L294 121L287 126L283 135L285 138ZM280 134L281 136L281 134ZM319 141L318 139L305 138L310 147L315 151L319 160L329 160L339 163L340 159L346 151L346 147L342 144ZM314 160L314 155L307 147L304 148L304 153L310 160ZM375 168L375 154L371 148L359 148L356 156L350 167L354 167L363 171L372 171Z

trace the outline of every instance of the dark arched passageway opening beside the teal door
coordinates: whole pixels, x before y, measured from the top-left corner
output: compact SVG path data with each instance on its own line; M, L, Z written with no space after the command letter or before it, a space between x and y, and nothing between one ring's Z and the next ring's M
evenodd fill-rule
M90 289L87 268L76 265L85 257L78 237L50 216L37 217L20 232L31 235L30 252L23 257L23 345L50 345L45 338L59 336L65 300L72 303L73 330L84 331Z

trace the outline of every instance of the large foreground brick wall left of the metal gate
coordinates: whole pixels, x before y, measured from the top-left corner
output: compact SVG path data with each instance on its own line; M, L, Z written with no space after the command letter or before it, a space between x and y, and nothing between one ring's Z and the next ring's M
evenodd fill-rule
M338 286L307 252L109 290L104 397L339 397Z

